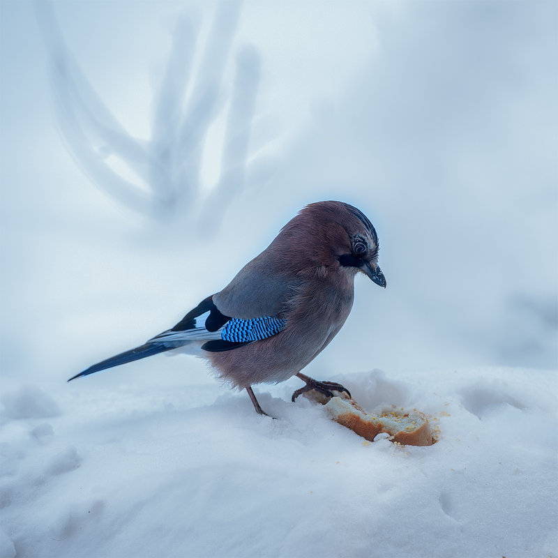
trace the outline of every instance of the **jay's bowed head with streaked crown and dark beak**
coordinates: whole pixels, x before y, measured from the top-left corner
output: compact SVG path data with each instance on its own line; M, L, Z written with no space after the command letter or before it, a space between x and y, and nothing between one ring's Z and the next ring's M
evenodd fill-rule
M361 271L376 285L386 287L386 278L377 263L376 229L368 217L352 205L343 202L310 204L283 227L278 239L281 236L285 241L289 239L292 259L305 259L324 274L338 270L353 278ZM301 267L308 269L306 265Z

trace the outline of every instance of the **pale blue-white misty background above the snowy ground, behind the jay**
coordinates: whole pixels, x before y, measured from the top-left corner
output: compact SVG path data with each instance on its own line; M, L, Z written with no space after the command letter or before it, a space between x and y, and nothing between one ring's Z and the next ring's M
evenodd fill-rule
M322 199L374 223L388 288L356 280L310 376L557 367L554 2L0 16L3 375L63 382L140 345ZM105 381L206 381L154 359Z

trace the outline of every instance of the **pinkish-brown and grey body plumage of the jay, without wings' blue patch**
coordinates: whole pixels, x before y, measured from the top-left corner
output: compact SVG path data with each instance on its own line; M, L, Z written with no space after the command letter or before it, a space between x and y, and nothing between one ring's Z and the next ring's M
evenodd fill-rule
M377 257L377 239L370 238L373 235L345 204L311 204L223 291L213 295L225 315L280 315L286 322L285 329L273 337L210 354L221 377L241 388L282 382L322 352L352 308L354 276L359 270L341 266L338 257L350 252L350 236L356 232L369 237L372 259ZM256 294L255 304L247 293Z

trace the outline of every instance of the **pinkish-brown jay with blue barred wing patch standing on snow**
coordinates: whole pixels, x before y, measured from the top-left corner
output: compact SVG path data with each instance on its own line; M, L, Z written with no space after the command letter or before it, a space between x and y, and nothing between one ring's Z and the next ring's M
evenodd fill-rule
M257 413L266 415L252 386L299 377L310 390L328 396L349 391L318 381L301 370L340 331L354 301L354 278L363 273L379 287L386 278L378 265L376 229L356 207L324 201L305 206L280 229L271 244L174 327L110 359L86 368L70 382L93 372L179 349L209 359L218 377L246 389Z

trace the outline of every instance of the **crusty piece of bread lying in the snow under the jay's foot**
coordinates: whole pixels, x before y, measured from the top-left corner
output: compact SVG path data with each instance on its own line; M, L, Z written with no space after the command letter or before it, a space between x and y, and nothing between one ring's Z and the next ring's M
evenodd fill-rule
M350 428L369 442L373 442L382 432L389 434L391 442L396 444L431 446L435 442L428 419L421 412L394 410L381 414L367 413L346 393L339 393L333 398L317 391L308 391L304 395L325 405L335 422Z

